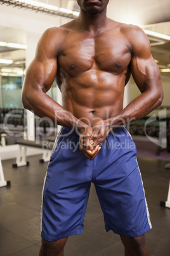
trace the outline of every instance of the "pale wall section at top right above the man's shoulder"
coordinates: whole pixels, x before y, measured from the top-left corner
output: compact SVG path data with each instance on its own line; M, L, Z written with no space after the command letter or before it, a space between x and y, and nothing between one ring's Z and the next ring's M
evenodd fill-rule
M108 17L128 24L147 25L170 20L169 0L110 0Z

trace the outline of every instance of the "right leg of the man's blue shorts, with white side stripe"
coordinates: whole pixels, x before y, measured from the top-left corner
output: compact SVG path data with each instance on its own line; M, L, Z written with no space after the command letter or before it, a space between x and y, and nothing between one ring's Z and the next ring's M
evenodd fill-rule
M114 143L119 142L119 148L113 144L112 148L103 149L108 160L104 158L103 164L99 161L103 167L97 174L95 187L106 230L111 229L122 236L141 236L151 229L148 207L136 160L136 147L126 131L121 134L124 136L108 138L108 143L111 139Z

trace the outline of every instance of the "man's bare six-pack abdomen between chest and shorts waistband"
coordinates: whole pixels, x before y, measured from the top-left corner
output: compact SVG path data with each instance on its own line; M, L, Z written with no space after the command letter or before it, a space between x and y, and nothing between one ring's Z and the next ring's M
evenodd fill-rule
M125 75L88 71L62 83L63 107L88 125L122 110Z

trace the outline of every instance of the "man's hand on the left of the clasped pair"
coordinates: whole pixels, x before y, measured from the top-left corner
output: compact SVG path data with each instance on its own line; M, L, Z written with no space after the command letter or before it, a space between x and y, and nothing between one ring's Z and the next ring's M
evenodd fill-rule
M87 126L86 129L84 129L83 132L80 134L79 139L79 146L80 151L88 157L88 159L93 160L98 152L100 151L100 145L96 145L95 147L91 144L93 141L91 141L91 136L93 134L93 128L90 126Z

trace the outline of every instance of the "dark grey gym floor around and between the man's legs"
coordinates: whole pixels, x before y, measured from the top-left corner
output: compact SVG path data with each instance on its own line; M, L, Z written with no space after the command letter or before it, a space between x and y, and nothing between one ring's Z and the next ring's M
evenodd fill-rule
M29 166L12 168L13 160L3 160L5 180L11 187L0 188L0 255L37 256L41 245L39 212L41 190L47 163L39 163L41 156L28 157ZM146 234L152 256L170 255L170 209L160 207L167 200L170 169L167 161L138 158L145 187L153 229ZM82 235L71 236L65 246L65 256L121 256L124 255L119 236L105 232L103 214L91 186L88 209ZM138 256L138 255L136 255Z

